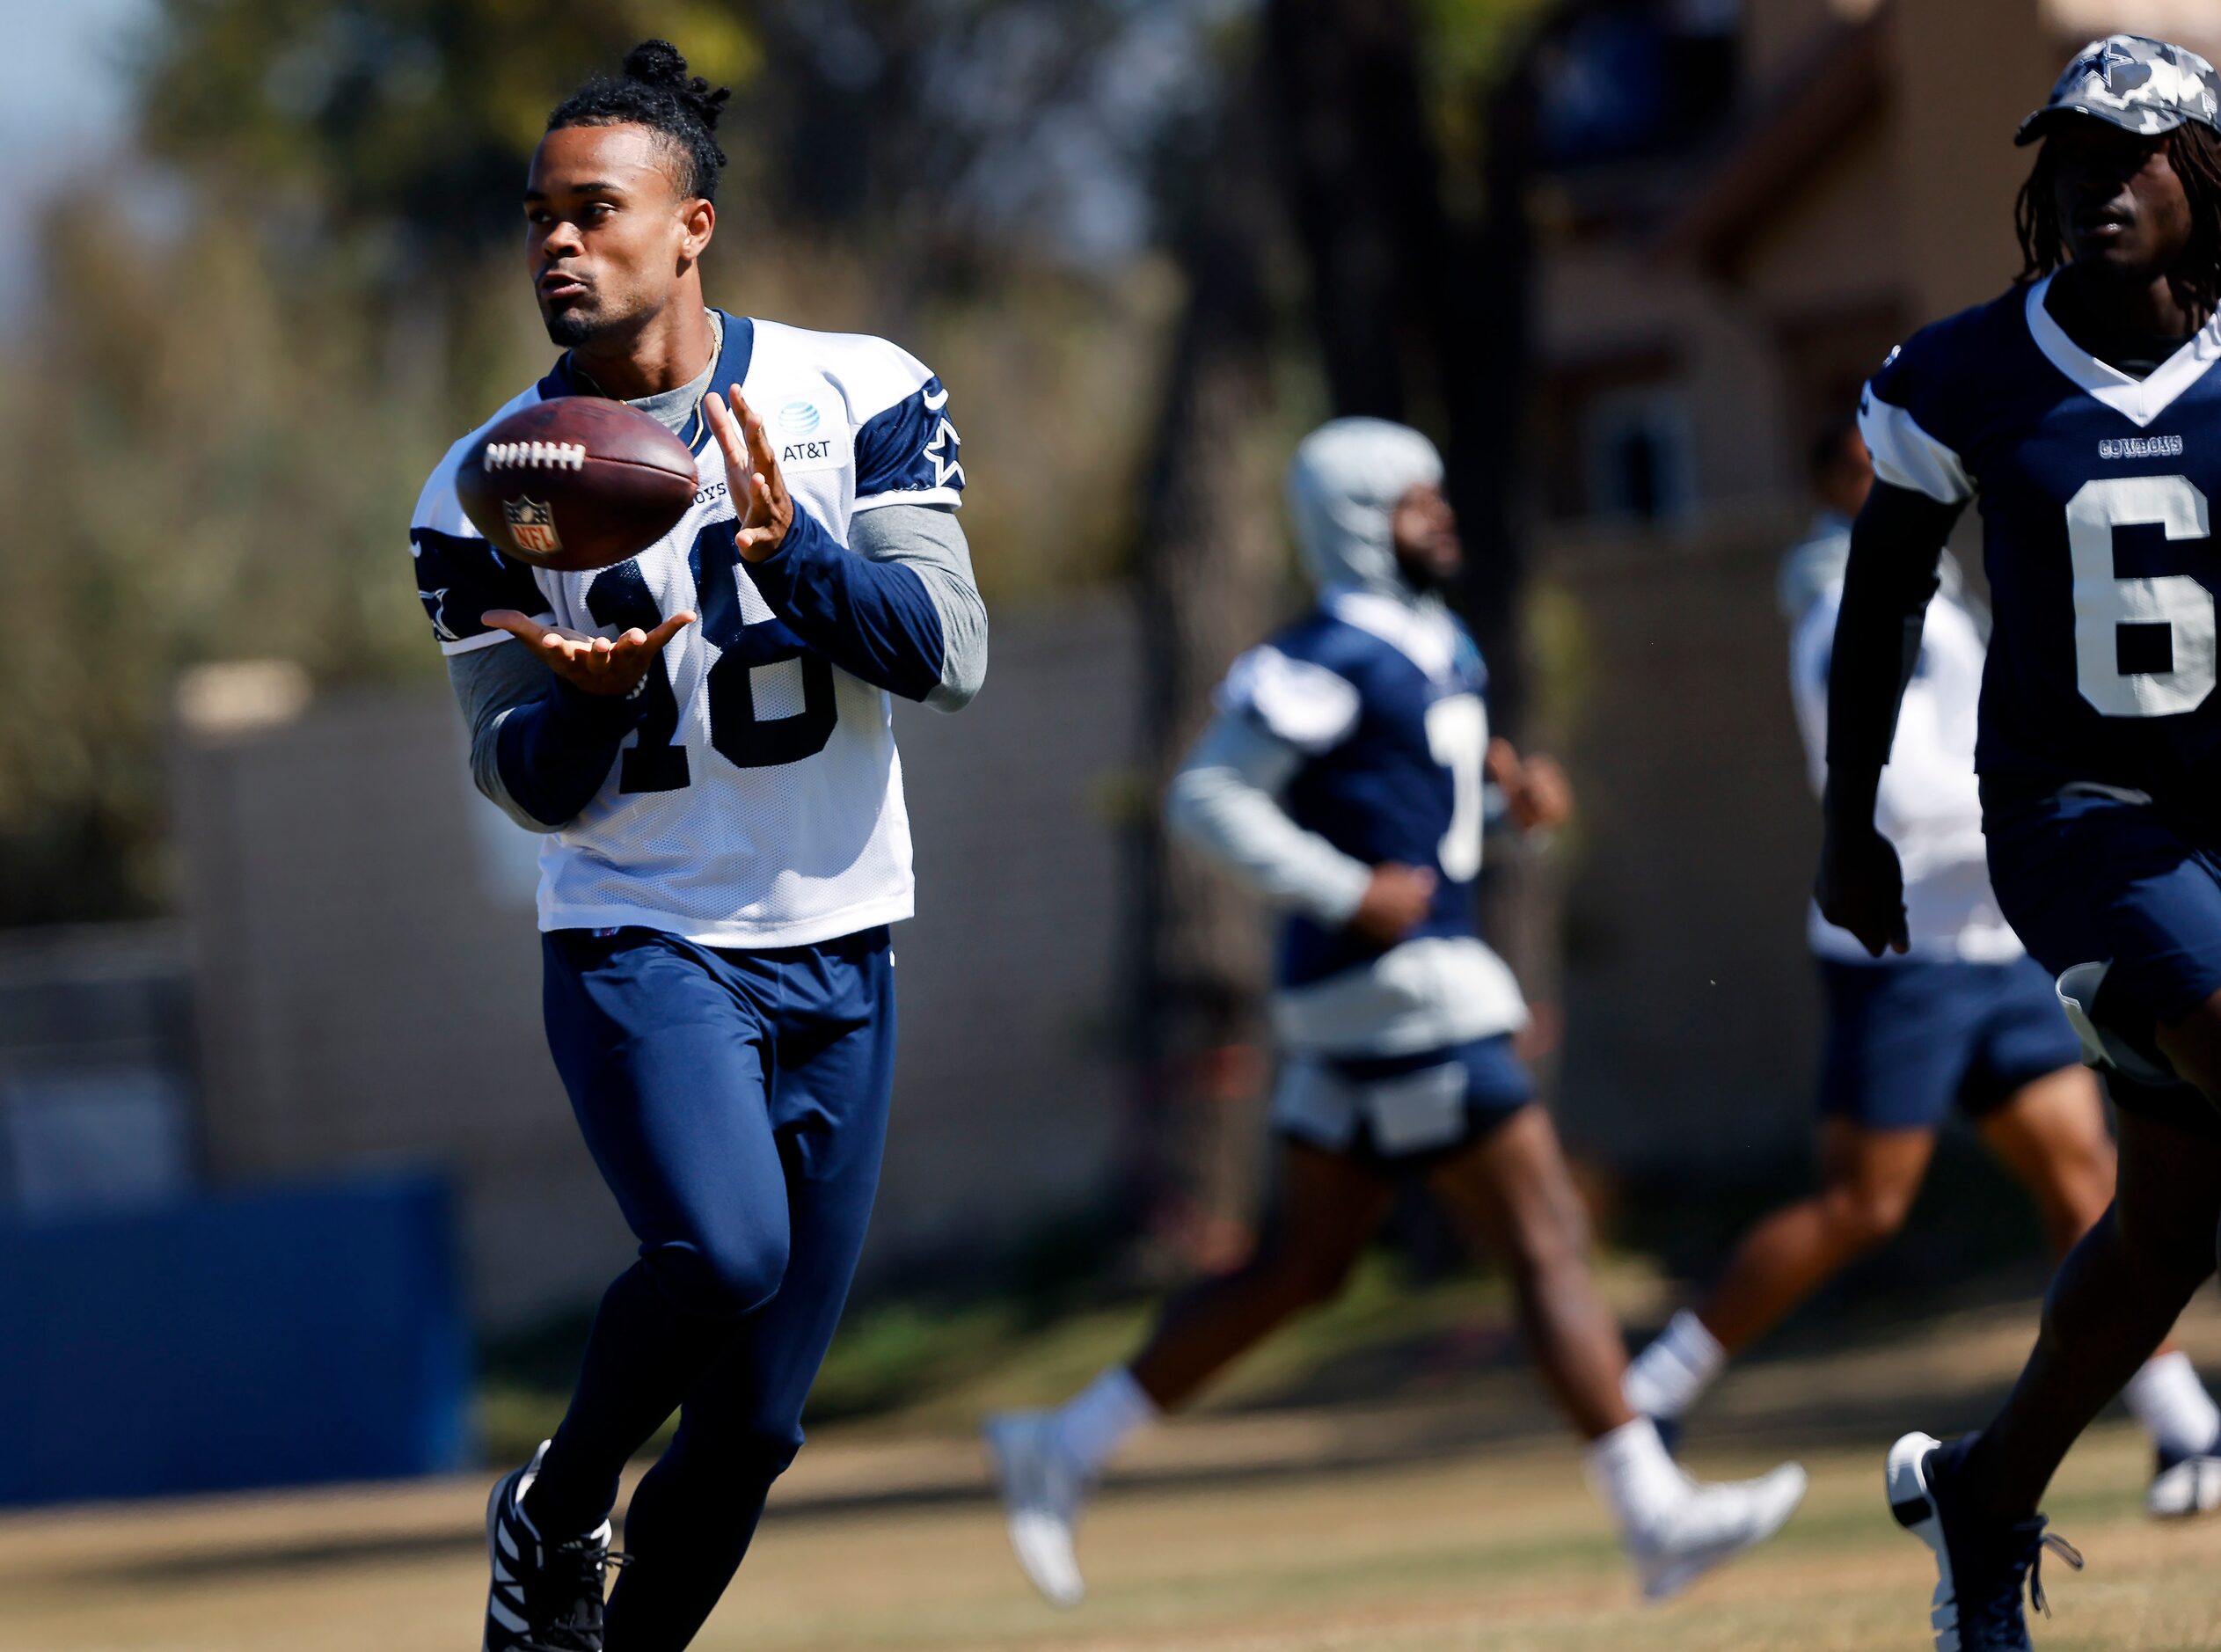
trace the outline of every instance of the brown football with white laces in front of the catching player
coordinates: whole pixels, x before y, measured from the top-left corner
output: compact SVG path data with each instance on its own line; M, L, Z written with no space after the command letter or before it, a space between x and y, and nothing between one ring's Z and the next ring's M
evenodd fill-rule
M662 540L700 480L693 453L624 402L560 395L495 422L455 473L464 515L537 568L606 568Z

